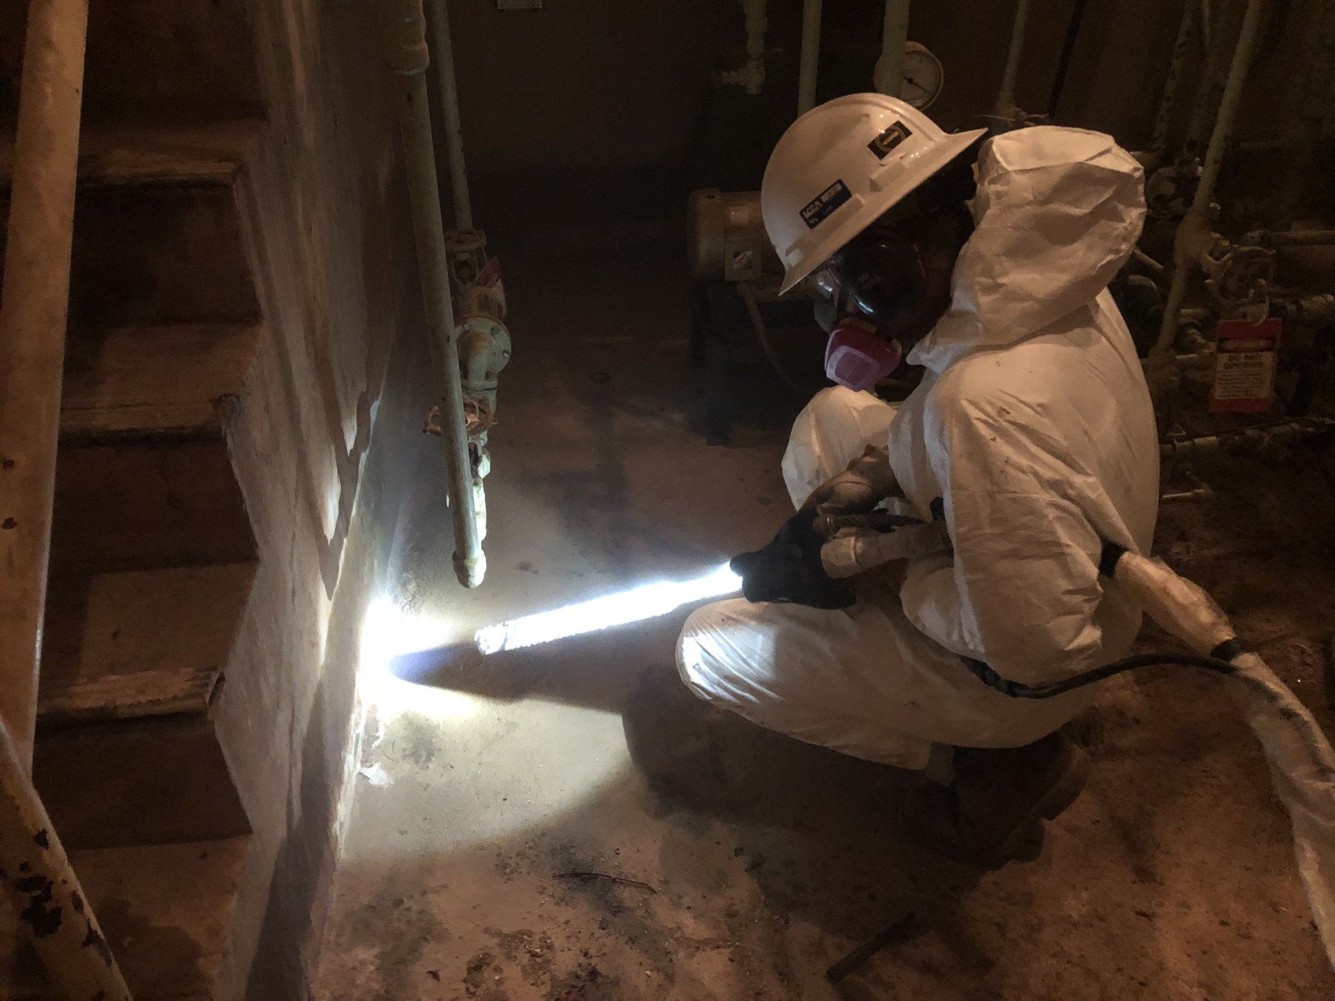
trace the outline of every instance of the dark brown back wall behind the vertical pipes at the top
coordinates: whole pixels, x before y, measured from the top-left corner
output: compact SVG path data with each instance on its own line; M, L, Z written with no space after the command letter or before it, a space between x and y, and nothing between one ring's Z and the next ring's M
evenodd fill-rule
M1311 35L1304 25L1320 4L1272 5L1286 15L1290 56ZM796 109L801 7L801 0L770 3L770 89L781 120ZM1029 111L1047 111L1072 8L1073 0L1031 3L1016 87ZM737 0L545 0L543 9L522 12L498 11L495 0L453 0L451 11L470 168L479 175L680 160L701 124L710 69L742 57ZM870 88L882 12L884 0L825 3L821 99ZM1180 12L1181 0L1088 0L1057 121L1127 144L1148 139ZM945 67L932 115L947 128L976 125L992 109L1013 16L1013 0L912 5L909 37ZM1294 69L1291 57L1263 60L1244 128L1275 128L1276 101L1298 84ZM1197 71L1193 56L1188 97Z

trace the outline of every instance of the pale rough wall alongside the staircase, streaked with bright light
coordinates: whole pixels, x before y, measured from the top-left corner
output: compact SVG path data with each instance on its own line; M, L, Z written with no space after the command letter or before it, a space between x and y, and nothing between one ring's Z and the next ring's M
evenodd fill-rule
M425 335L376 11L251 4L268 127L242 207L267 334L232 458L260 567L219 730L255 837L220 1001L307 997L356 761L360 625L421 426L386 382L395 343Z

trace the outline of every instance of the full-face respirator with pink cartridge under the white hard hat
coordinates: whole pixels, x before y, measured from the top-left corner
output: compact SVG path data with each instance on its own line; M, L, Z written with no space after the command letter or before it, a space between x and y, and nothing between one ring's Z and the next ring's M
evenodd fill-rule
M869 390L904 360L951 304L951 272L963 240L956 214L873 224L812 276L833 306L825 375Z

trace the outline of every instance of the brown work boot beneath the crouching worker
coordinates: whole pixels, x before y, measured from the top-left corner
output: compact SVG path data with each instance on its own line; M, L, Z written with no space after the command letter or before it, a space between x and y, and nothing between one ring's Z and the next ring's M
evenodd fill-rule
M922 782L900 807L900 823L920 845L960 862L997 866L1041 841L1080 795L1089 755L1055 733L1024 747L956 747L955 782Z

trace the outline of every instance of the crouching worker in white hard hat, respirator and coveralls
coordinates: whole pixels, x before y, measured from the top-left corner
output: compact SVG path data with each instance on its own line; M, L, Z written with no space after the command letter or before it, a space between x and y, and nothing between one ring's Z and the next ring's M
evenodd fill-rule
M765 172L785 290L822 294L840 383L793 427L798 514L766 551L813 558L816 519L886 503L937 543L782 595L766 551L740 559L749 599L693 614L678 667L708 702L860 758L922 770L953 749L951 785L920 782L901 819L957 858L1012 857L1088 771L1060 733L1088 689L1009 698L977 669L1060 681L1125 655L1140 626L1099 559L1105 542L1148 551L1159 496L1149 394L1107 291L1141 182L1105 135L948 135L880 95L804 115ZM925 378L892 407L865 390L901 358Z

